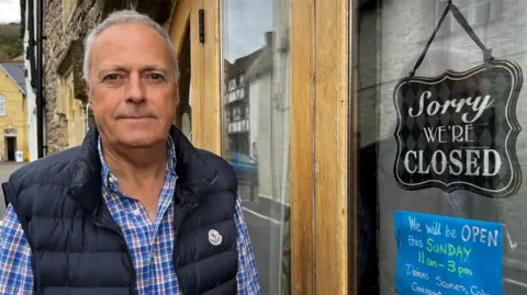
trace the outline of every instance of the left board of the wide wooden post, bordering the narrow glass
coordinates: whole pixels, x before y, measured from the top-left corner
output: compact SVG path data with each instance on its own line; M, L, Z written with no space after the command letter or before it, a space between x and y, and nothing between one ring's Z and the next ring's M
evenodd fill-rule
M291 292L315 294L315 5L291 0ZM327 293L330 294L330 293Z

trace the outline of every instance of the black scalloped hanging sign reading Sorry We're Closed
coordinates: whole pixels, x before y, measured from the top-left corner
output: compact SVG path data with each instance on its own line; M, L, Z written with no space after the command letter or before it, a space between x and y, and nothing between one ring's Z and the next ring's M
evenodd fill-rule
M523 84L514 61L491 60L466 72L404 78L395 87L394 177L406 190L469 190L513 195L522 171L515 144Z

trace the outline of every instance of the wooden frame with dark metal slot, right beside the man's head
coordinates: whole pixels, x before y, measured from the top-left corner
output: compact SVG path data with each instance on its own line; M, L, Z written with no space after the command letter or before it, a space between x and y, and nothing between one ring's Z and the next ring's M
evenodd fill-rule
M203 43L200 41L200 12L203 13ZM192 25L191 25L192 24ZM220 1L178 0L169 35L178 60L190 30L192 89L192 143L220 155ZM206 67L204 66L206 65Z

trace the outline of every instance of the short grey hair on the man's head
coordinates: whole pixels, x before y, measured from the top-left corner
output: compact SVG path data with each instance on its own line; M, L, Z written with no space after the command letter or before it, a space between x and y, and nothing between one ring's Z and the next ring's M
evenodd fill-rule
M154 29L167 43L170 53L172 54L172 64L175 69L175 79L176 81L179 80L179 67L178 67L178 59L176 55L176 50L173 49L172 42L170 36L168 35L167 31L162 29L157 22L148 18L147 15L141 14L135 10L121 10L112 12L103 22L98 24L91 33L86 38L85 43L85 64L83 64L83 78L87 82L89 82L90 76L90 50L93 42L96 41L97 36L99 36L104 30L123 23L138 23L145 24L149 27Z

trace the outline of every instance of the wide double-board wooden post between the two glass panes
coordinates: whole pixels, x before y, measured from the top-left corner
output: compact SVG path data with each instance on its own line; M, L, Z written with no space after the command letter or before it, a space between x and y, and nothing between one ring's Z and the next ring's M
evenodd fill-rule
M293 295L355 290L348 281L355 275L348 269L355 258L348 253L349 2L290 0Z

